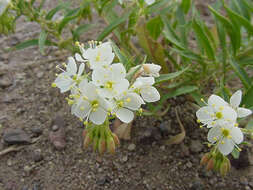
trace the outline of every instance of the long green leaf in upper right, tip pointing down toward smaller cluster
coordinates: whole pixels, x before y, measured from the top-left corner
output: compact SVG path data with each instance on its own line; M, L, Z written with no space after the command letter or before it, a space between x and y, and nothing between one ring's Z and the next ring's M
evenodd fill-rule
M197 22L196 19L193 20L192 27L194 29L194 32L196 34L196 37L197 37L200 45L201 45L201 48L203 48L205 50L205 52L207 54L207 57L209 59L214 60L215 59L215 54L214 54L214 50L211 46L211 43L210 43L205 31L203 30L203 28Z

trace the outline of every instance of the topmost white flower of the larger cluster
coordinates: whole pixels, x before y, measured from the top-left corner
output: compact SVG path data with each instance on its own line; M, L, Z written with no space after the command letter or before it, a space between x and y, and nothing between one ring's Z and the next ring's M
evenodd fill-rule
M87 50L84 48L80 49L83 58L89 61L91 69L109 66L114 59L110 42L102 43L96 47L90 47Z

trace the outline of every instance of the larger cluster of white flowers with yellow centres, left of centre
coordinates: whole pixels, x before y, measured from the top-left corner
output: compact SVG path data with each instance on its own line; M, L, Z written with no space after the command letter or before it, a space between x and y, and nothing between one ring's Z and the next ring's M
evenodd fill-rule
M64 64L66 70L57 67L63 72L58 74L53 86L62 93L71 91L67 98L71 113L80 120L101 125L108 116L116 116L129 123L142 104L160 99L152 86L155 83L152 76L159 76L160 66L153 69L154 64L144 64L143 74L131 84L126 79L124 65L112 63L115 55L110 42L90 42L88 49L79 47L81 54L68 58L68 64Z

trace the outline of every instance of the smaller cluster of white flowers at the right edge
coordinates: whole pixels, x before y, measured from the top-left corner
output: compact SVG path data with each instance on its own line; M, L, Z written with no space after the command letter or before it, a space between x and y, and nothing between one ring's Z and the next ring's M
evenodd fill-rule
M238 127L237 118L250 115L249 109L239 107L242 91L236 91L226 102L217 95L211 95L206 106L200 108L196 115L202 126L210 128L208 141L214 150L218 149L224 156L230 154L234 148L240 151L238 144L243 141L242 129Z

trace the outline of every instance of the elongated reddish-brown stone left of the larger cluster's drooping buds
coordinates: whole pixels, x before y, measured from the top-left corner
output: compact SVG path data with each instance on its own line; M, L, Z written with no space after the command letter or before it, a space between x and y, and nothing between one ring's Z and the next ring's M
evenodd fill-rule
M57 150L62 150L66 146L65 123L63 118L57 116L53 122L53 126L58 126L58 129L49 132L49 140Z

